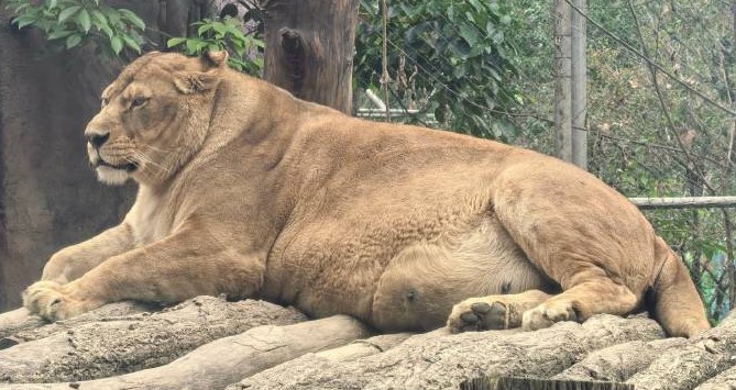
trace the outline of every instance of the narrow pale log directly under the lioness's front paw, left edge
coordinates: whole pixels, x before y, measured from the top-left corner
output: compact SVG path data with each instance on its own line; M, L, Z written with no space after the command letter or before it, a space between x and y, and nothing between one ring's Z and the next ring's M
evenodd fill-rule
M9 348L15 344L47 337L54 333L80 326L81 324L98 321L119 321L127 316L161 311L157 304L143 302L116 302L106 304L97 310L84 313L65 321L47 323L37 315L31 315L28 310L21 308L0 315L0 349Z

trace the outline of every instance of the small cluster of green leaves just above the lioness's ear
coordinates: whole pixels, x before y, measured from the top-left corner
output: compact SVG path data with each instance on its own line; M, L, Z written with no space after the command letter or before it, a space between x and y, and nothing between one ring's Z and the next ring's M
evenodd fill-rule
M228 65L250 75L260 75L263 58L251 59L249 51L263 49L263 41L254 35L245 35L240 20L224 16L222 20L204 19L194 24L197 36L174 37L168 40L168 47L180 46L187 55L201 55L204 51L224 51L230 53Z

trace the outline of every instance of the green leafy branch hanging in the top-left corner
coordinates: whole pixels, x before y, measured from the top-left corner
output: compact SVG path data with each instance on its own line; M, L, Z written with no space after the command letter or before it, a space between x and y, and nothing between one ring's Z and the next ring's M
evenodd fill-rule
M124 48L141 52L145 23L125 9L100 0L7 0L18 29L35 26L55 45L70 49L89 42L119 55Z

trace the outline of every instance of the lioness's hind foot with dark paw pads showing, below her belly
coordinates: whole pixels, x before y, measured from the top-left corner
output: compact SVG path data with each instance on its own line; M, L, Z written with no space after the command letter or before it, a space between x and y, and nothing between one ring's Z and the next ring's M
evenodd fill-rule
M452 308L447 325L452 333L519 327L523 314L549 298L539 290L470 298Z

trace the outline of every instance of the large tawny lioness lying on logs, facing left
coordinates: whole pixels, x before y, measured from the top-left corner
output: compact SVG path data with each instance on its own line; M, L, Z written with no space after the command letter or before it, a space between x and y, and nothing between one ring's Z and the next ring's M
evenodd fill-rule
M384 331L537 330L653 309L708 328L685 267L626 198L530 151L372 123L205 58L145 55L85 135L124 221L59 250L24 304L261 298Z

